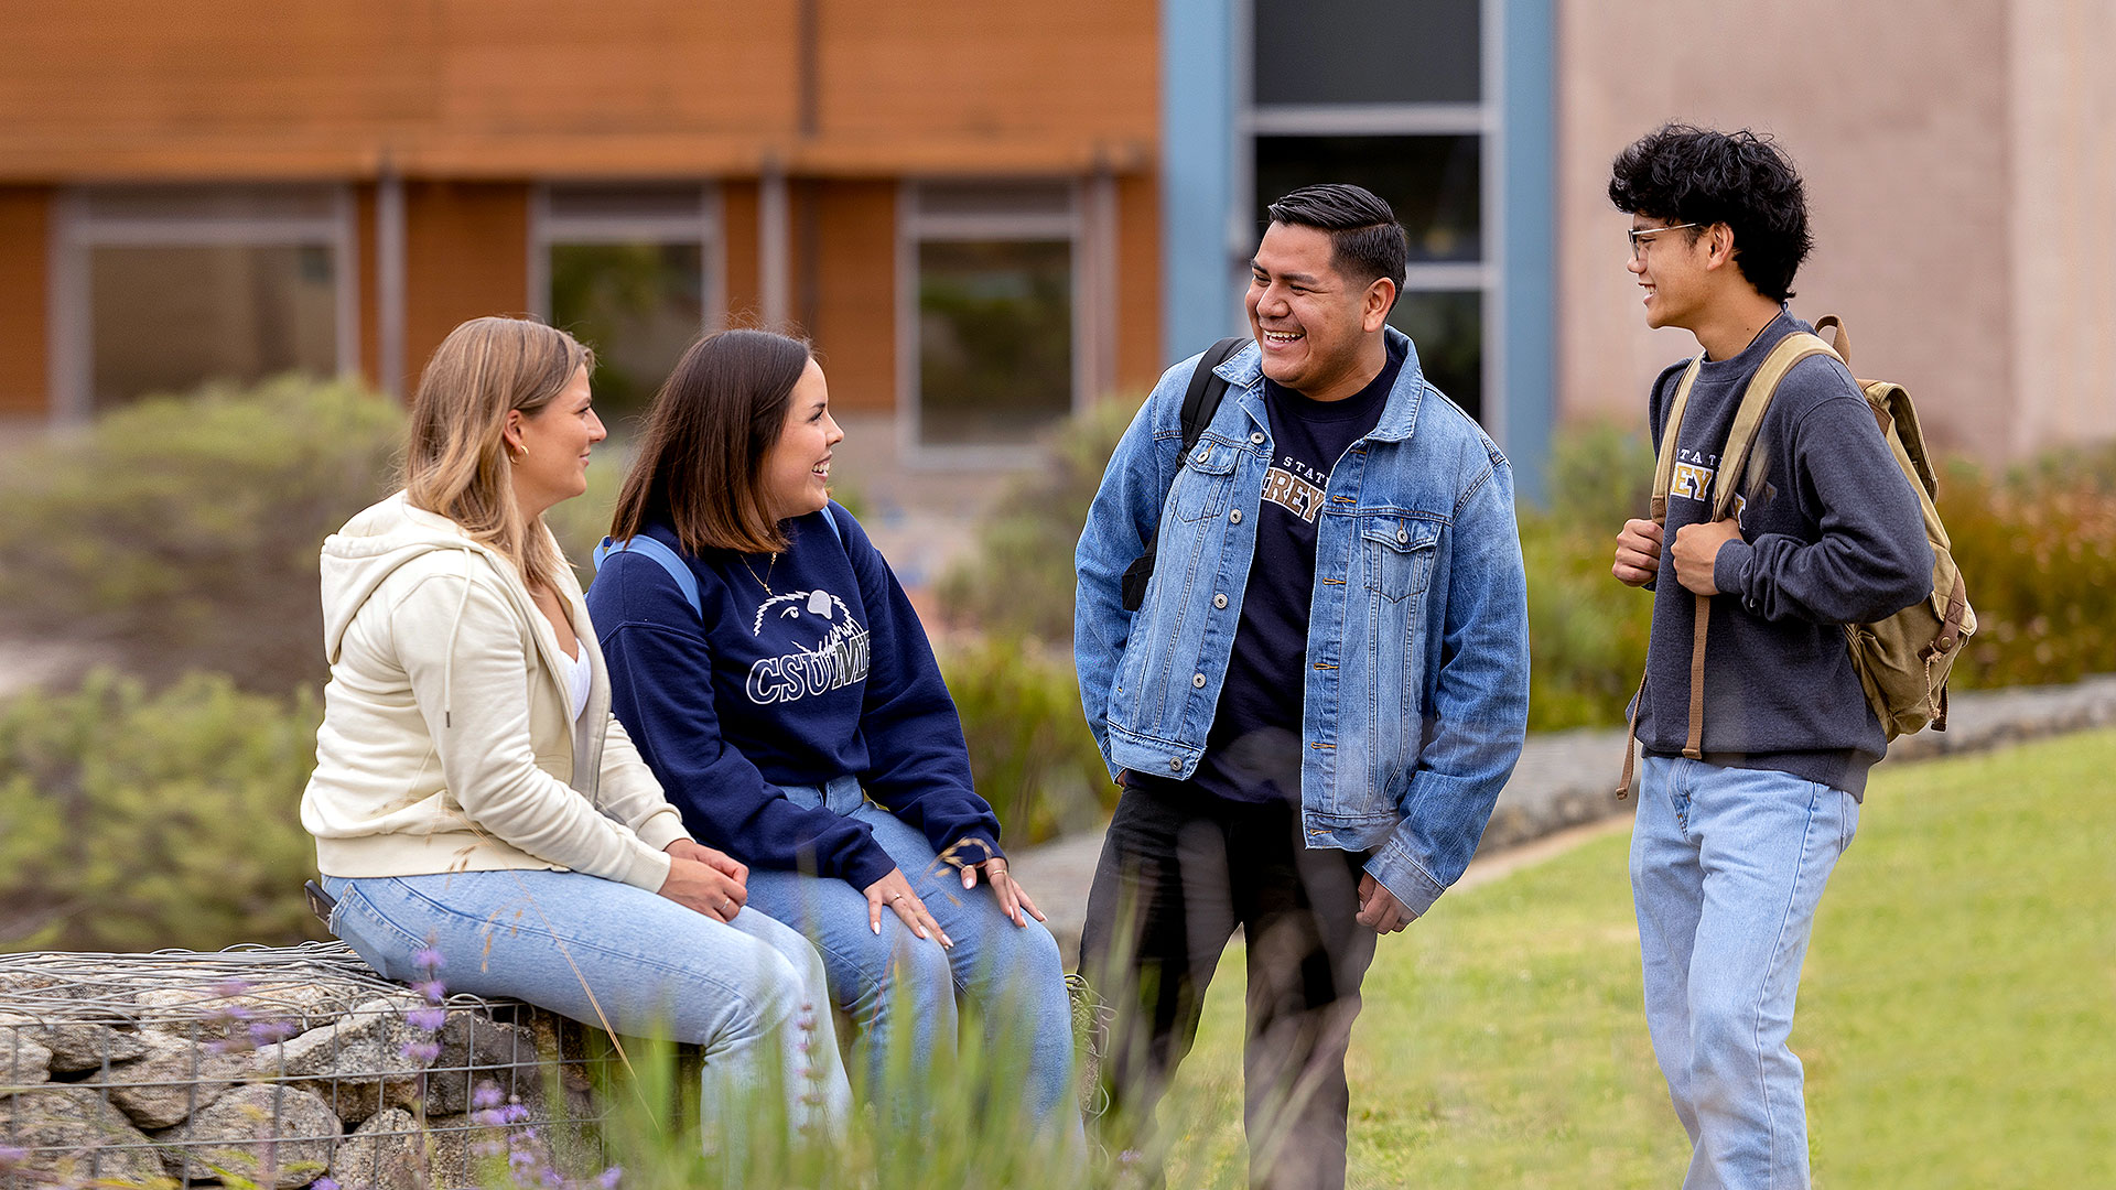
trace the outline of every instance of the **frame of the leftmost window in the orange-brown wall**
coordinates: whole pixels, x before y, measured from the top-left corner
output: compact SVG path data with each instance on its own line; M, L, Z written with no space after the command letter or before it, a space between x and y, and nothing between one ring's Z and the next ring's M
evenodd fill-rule
M313 193L322 214L97 214L108 193L184 195L212 191ZM89 256L97 248L326 248L332 254L336 377L360 375L360 218L345 182L93 182L53 195L47 309L53 426L95 419L95 294Z

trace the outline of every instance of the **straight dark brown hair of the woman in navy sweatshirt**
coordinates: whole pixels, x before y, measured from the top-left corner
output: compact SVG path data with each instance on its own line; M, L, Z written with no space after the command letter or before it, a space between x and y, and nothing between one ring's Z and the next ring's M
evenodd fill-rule
M808 360L808 343L770 330L692 343L647 409L609 536L622 542L664 521L694 555L787 548L764 498L764 455L785 432Z

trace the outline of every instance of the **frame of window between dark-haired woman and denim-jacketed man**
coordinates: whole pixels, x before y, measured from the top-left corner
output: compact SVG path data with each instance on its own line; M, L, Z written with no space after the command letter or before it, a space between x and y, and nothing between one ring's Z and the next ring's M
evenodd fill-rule
M925 186L946 184L1062 184L1064 212L927 212ZM1037 455L1028 443L925 443L925 394L920 390L920 311L918 311L918 248L929 241L1050 241L1064 239L1069 248L1069 284L1073 286L1073 394L1066 413L1081 413L1094 402L1096 377L1107 371L1098 356L1109 354L1115 330L1102 330L1098 311L1113 318L1113 299L1100 294L1113 288L1109 269L1098 267L1113 229L1113 195L1107 178L906 178L897 184L897 451L910 470L1016 470ZM1100 347L1098 347L1100 345Z

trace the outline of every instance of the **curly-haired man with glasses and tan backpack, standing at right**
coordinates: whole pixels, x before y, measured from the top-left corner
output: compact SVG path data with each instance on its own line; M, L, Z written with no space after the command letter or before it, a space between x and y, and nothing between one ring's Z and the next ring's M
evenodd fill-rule
M1653 385L1653 519L1623 525L1612 567L1653 589L1631 709L1646 1027L1693 1141L1684 1186L1805 1188L1786 1038L1816 906L1866 769L1900 731L1945 726L1974 618L1909 398L1854 381L1841 330L1832 351L1786 307L1809 250L1792 163L1748 131L1667 125L1617 157L1608 195L1646 324L1703 349Z

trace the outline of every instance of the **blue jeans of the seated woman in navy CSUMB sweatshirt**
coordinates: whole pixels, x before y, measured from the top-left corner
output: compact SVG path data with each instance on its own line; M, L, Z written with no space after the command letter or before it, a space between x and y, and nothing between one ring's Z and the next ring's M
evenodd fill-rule
M882 1086L897 1046L910 1046L918 1063L925 1054L952 1061L956 995L963 995L980 1010L984 1052L1022 1063L1024 1107L1033 1118L1056 1120L1056 1135L1066 1141L1083 1139L1073 1090L1073 1008L1050 930L1026 915L1028 925L1009 921L982 879L975 891L963 891L961 870L942 862L925 834L870 803L855 777L838 777L827 790L783 792L798 805L872 826L874 841L954 938L954 949L944 951L889 908L882 932L874 934L865 891L836 877L749 872L751 908L802 930L823 953L832 999L853 1021L853 1063L868 1071L870 1086Z

